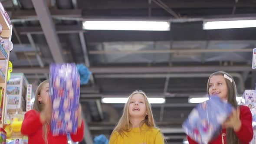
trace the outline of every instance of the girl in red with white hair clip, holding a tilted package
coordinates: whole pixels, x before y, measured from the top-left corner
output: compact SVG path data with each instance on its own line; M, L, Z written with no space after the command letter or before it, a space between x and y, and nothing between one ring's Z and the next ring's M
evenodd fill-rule
M209 96L218 95L236 108L223 124L221 133L209 144L249 144L253 139L253 118L248 107L237 105L236 83L232 76L226 72L214 72L208 79L207 89ZM189 144L197 144L190 137L187 139Z

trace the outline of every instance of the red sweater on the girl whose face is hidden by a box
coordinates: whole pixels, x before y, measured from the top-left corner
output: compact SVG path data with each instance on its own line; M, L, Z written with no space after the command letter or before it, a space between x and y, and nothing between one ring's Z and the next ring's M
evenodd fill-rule
M50 129L48 125L48 129ZM45 144L43 139L43 123L40 121L40 113L35 110L27 111L21 126L21 133L28 136L28 144ZM70 134L72 141L82 141L84 137L84 122L76 134ZM50 130L47 134L48 144L67 144L67 135L53 136Z

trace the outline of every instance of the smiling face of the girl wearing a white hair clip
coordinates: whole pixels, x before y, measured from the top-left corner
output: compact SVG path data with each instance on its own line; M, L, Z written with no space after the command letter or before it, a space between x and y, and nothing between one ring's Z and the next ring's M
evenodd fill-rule
M217 95L223 100L228 98L228 88L223 75L213 75L209 82L209 95Z

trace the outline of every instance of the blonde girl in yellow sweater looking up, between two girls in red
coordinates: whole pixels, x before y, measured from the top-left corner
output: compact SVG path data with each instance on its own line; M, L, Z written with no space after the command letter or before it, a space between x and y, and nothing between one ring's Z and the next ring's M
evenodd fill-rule
M151 105L144 92L135 91L129 96L109 144L164 144L164 137L155 126Z

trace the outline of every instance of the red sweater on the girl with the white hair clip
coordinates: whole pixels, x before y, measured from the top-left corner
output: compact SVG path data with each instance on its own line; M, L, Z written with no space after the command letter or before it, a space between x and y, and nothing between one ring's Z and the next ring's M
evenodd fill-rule
M241 120L241 128L239 131L235 132L236 136L240 140L240 144L249 144L249 142L253 139L253 117L250 109L244 105L240 105L240 120ZM226 144L226 129L222 129L224 144ZM197 144L190 137L187 137L189 144ZM222 144L222 136L221 134L210 141L209 144Z

